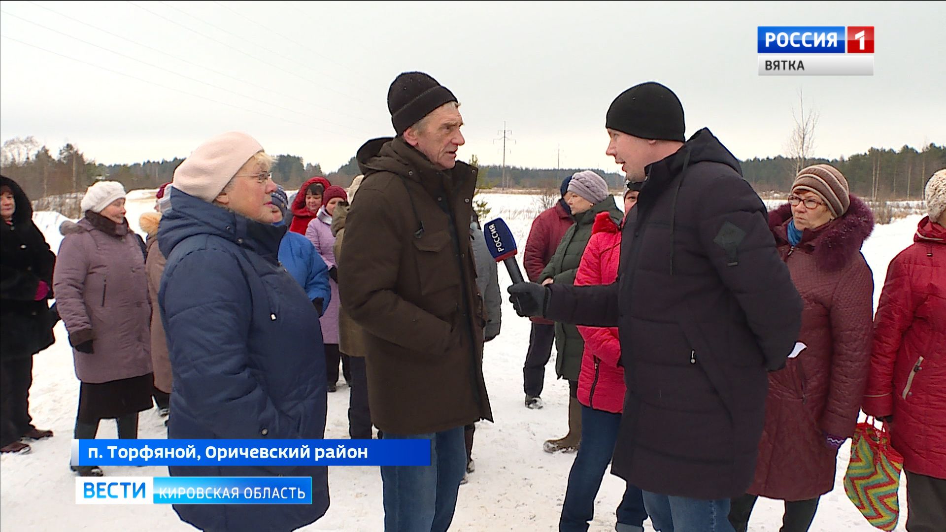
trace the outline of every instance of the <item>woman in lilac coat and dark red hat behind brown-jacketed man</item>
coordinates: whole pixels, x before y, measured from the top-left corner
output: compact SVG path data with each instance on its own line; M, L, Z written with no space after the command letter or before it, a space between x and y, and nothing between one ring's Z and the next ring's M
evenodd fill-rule
M339 274L335 265L335 236L332 235L332 214L335 205L348 201L348 194L341 186L329 186L322 195L322 208L319 214L308 222L306 238L315 246L319 256L328 266L329 284L332 287L332 297L325 308L322 318L322 338L325 343L325 370L328 377L328 391L336 390L339 381L339 360L342 361L342 374L345 382L351 382L351 373L348 369L348 355L339 352Z

